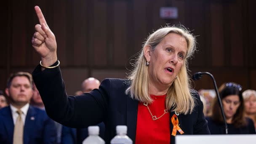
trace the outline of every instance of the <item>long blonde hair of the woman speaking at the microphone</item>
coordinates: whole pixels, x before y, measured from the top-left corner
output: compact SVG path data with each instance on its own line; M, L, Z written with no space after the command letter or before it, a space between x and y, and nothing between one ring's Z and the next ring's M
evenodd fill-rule
M168 88L167 96L165 99L165 105L167 109L176 111L179 113L187 114L191 113L195 107L194 98L190 93L190 80L187 74L188 62L187 60L193 55L195 51L195 37L184 27L162 27L153 32L147 38L141 49L140 56L136 59L134 69L128 76L131 80L131 85L125 91L126 94L130 94L131 98L141 102L152 103L152 99L149 94L149 74L148 67L146 66L146 59L144 57L144 47L149 45L152 51L163 40L163 38L169 33L175 33L184 37L187 41L187 55L184 59L184 64L180 69L177 79Z

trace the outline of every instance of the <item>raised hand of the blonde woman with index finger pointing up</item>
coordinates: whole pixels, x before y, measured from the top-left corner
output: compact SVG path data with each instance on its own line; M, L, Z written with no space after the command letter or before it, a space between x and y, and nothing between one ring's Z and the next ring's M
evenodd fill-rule
M35 33L32 38L32 46L39 53L42 64L51 66L57 61L57 43L51 29L48 27L41 9L35 6L35 12L40 24L35 25Z

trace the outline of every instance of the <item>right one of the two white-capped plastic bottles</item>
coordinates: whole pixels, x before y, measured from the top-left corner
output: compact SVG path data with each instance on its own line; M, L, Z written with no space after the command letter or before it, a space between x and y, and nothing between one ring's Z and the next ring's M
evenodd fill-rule
M126 135L127 126L117 125L117 135L110 141L110 144L132 144L133 141Z

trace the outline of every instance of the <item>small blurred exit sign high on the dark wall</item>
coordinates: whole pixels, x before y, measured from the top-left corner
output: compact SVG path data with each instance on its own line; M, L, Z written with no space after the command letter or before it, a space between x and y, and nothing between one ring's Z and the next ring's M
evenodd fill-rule
M161 7L160 8L160 18L162 18L162 19L177 19L178 18L178 8L176 8L176 7Z

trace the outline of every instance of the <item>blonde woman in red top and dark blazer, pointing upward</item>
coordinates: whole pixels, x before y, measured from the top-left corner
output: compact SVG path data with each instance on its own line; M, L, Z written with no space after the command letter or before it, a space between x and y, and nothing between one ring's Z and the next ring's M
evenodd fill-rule
M105 79L99 89L67 97L56 39L39 7L32 45L41 56L33 78L48 115L69 127L104 122L107 143L117 125L127 125L136 144L174 144L176 134L209 134L198 93L190 89L187 60L195 37L186 29L163 27L147 38L128 79Z

